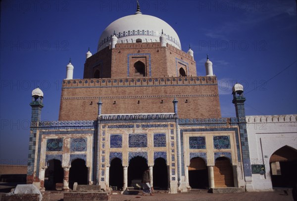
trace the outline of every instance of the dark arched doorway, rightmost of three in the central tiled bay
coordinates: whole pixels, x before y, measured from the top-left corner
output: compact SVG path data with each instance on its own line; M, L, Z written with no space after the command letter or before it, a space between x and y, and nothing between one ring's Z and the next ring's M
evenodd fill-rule
M152 181L154 189L167 190L168 171L165 159L157 158L152 168Z

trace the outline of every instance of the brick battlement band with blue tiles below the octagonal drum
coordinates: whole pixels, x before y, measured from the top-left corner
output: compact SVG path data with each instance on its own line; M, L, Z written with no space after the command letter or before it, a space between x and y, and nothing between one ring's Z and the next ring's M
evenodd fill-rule
M213 85L215 76L206 77L162 77L162 78L117 78L63 80L62 87L119 87L119 86L169 86L169 85Z

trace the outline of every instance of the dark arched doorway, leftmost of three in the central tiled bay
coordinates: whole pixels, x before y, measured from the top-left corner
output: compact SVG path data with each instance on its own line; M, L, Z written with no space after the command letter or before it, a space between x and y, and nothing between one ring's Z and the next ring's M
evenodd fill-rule
M119 158L114 158L110 162L109 167L109 186L117 187L117 190L123 188L123 165Z

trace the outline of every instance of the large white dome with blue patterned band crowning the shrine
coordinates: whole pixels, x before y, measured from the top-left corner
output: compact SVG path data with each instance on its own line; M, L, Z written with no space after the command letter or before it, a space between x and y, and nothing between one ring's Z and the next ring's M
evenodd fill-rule
M115 31L118 38L117 43L131 43L141 39L142 42L159 41L161 31L164 31L167 42L174 47L181 49L181 43L177 33L165 21L150 15L143 15L137 12L112 22L103 31L98 42L98 51L111 44L111 37Z

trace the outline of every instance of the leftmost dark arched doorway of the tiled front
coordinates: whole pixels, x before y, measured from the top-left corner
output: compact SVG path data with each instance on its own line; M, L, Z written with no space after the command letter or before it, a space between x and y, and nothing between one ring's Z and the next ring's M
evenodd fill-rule
M61 161L52 159L48 161L48 168L45 172L45 188L46 190L55 190L56 183L63 183L64 170Z

